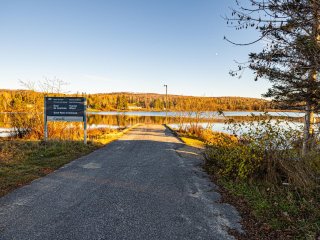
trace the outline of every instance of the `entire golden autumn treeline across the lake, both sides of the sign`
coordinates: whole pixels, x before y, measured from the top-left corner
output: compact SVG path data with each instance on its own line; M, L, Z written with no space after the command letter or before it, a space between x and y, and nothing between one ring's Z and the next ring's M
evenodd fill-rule
M86 97L88 108L99 111L266 111L276 107L269 101L244 97L193 97L153 93L45 94L30 90L0 90L0 111L43 108L44 96ZM166 106L167 103L167 106Z

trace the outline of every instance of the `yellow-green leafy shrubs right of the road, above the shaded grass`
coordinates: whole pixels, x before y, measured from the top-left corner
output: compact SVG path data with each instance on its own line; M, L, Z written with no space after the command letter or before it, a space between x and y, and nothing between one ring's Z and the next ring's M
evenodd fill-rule
M233 123L228 130L241 136L239 141L226 134L212 134L206 150L210 171L236 179L263 179L304 190L314 187L320 172L319 151L303 157L299 148L302 131L292 123L264 120ZM208 133L204 132L208 140Z

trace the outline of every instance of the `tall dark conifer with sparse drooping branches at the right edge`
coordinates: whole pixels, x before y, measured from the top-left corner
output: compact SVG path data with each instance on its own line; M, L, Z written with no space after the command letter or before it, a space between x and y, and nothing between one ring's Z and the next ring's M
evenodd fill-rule
M255 73L255 80L266 78L272 87L264 96L285 107L305 112L303 153L312 142L313 113L320 102L320 1L319 0L236 0L228 24L237 30L256 29L260 37L249 45L264 41L261 52L250 53L249 63L240 65Z

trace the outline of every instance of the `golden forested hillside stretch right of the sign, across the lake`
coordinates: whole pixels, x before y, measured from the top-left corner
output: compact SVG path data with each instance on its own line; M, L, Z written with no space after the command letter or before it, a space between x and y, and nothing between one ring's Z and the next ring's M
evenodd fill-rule
M264 111L272 109L269 101L245 97L194 97L168 95L169 110L206 110L206 111ZM157 93L100 93L89 94L88 104L99 110L125 110L141 108L163 110L166 107L166 95Z

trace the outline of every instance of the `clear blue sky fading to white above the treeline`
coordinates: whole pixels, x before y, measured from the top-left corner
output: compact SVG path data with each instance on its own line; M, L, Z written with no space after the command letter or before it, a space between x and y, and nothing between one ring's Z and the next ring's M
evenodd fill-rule
M245 0L243 0L245 1ZM223 16L235 0L0 0L0 88L59 79L68 93L261 97L270 83L229 75L262 43Z

